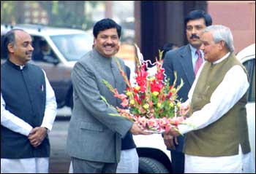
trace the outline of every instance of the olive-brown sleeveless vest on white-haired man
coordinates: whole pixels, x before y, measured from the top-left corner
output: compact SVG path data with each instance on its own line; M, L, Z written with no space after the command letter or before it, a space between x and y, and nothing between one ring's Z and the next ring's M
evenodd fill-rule
M214 90L233 66L244 66L231 53L228 58L217 64L206 63L203 66L192 95L192 113L207 103ZM234 77L236 78L236 77ZM185 136L184 153L200 157L223 157L238 154L238 146L244 154L251 151L246 121L246 94L230 108L220 119L200 130L194 130Z

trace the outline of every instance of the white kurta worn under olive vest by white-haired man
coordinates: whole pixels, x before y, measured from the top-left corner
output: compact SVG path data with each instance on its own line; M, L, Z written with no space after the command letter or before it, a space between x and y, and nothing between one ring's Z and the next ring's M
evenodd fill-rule
M214 64L222 62L228 55L230 55L230 52L215 61ZM191 90L189 90L189 99L182 105L187 105L191 102L198 74L202 71L203 66L200 67L195 82L192 84ZM180 124L178 125L178 130L184 134L192 130L202 129L216 122L242 98L248 87L249 82L243 68L241 66L233 66L227 71L223 81L212 93L210 103L203 106L201 110L195 111L192 116L189 116L184 121L195 127ZM255 173L252 152L242 154L241 147L239 149L238 155L229 157L197 157L185 154L185 173Z

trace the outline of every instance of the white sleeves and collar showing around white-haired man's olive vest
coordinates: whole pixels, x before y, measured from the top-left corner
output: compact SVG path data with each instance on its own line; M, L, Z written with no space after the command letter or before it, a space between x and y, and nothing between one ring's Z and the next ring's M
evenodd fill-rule
M222 62L225 58L230 55L227 53L223 58L214 62L214 64ZM192 100L192 94L195 90L195 85L197 84L198 74L202 71L205 63L198 70L197 76L195 77L195 82L192 84L189 90L188 100L182 105L187 105ZM236 78L234 78L236 77ZM206 104L199 111L195 111L192 116L189 116L184 122L194 125L195 127L190 127L186 124L178 125L178 130L182 134L188 133L191 130L199 130L203 127L208 126L217 119L220 119L227 111L230 110L240 98L245 94L249 87L249 82L244 69L241 66L233 66L227 71L223 81L219 84L216 90L211 95L210 103Z

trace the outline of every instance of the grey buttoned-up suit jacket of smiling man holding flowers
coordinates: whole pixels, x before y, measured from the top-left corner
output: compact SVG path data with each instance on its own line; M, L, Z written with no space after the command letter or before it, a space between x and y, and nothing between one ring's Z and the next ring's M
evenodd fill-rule
M124 62L119 62L125 71ZM69 155L95 162L118 162L121 138L132 127L132 122L121 116L108 115L117 112L100 97L104 96L113 106L120 103L102 79L117 88L119 93L126 89L115 60L92 50L75 64L71 79L74 108L67 136Z

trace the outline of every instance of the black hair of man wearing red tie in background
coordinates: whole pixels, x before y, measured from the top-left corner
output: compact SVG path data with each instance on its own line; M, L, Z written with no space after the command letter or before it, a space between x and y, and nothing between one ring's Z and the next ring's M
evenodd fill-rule
M212 23L211 15L208 15L203 10L196 9L196 10L193 10L192 12L189 12L187 17L185 18L185 20L184 20L185 27L187 26L187 23L189 22L189 20L197 20L200 18L203 18L205 20L206 26L211 25L211 23Z

